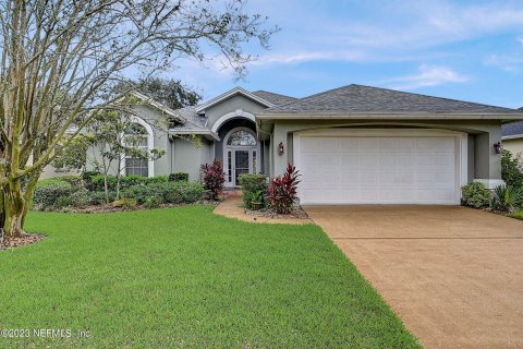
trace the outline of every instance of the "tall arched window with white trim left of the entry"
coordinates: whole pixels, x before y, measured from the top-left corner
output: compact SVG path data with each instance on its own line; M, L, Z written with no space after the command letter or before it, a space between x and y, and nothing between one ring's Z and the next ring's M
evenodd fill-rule
M125 132L125 142L131 143L133 147L144 153L148 151L147 139L147 130L139 123L133 123ZM125 176L130 174L148 177L149 160L142 157L125 156Z

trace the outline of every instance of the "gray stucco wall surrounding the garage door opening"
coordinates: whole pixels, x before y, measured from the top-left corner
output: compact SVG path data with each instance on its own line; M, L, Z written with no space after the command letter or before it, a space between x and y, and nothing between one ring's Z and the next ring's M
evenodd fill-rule
M495 154L492 144L501 141L501 123L499 120L277 120L273 124L263 124L272 129L270 176L281 174L288 163L293 163L294 132L326 129L331 127L423 127L469 133L469 179L501 179L500 159ZM285 154L278 154L278 144L282 142ZM471 149L472 148L472 149ZM472 156L473 155L473 156Z

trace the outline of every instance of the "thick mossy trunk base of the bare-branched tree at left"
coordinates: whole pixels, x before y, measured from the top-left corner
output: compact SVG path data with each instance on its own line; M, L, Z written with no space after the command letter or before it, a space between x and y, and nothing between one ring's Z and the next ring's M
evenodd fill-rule
M3 188L3 233L5 237L20 237L24 233L27 215L27 201L24 198L20 178L10 179Z

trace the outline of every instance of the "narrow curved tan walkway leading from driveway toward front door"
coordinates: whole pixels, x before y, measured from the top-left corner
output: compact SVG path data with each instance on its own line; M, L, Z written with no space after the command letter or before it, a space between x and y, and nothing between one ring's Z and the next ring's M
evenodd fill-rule
M251 222L265 222L265 224L284 224L284 225L304 225L312 224L311 219L297 219L297 218L272 218L272 217L255 217L247 215L243 206L243 197L238 194L232 194L226 197L215 208L215 214L226 216L229 218L236 218Z

